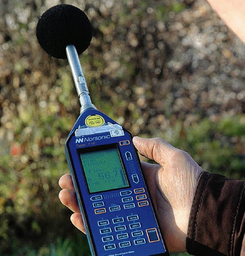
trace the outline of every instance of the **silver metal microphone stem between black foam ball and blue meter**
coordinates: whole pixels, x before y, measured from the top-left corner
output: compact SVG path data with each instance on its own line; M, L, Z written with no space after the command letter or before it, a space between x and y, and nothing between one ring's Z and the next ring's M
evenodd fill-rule
M77 89L77 94L81 103L80 113L85 111L85 109L96 109L95 105L91 102L87 83L83 75L82 67L75 46L67 45L65 51L70 64L70 68L72 70L72 76Z

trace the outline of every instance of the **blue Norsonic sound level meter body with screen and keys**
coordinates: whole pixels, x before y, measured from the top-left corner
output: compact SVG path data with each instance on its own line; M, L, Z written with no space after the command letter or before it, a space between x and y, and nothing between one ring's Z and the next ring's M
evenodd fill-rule
M169 255L130 132L86 109L65 153L92 255Z

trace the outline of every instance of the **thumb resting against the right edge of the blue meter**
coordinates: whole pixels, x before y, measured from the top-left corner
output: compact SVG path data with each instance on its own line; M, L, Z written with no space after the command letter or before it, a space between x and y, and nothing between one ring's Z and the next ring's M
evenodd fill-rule
M133 138L133 143L140 155L154 160L163 165L164 159L176 151L176 148L161 138L144 139L138 136Z

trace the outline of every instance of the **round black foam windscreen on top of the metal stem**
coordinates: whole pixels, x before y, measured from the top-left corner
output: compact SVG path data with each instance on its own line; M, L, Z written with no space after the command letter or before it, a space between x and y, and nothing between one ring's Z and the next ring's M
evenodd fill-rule
M86 14L73 5L51 7L38 20L38 42L49 55L66 59L65 48L74 45L78 55L85 51L92 39L92 26Z

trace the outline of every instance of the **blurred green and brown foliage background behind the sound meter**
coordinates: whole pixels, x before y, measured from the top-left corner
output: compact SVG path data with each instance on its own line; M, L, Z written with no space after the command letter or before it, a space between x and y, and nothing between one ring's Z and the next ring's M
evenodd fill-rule
M59 3L93 25L80 60L100 111L206 171L245 178L245 45L204 0L0 0L1 256L90 255L58 199L77 93L68 62L35 36Z

